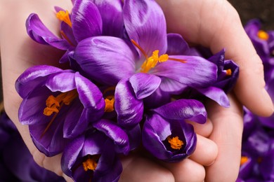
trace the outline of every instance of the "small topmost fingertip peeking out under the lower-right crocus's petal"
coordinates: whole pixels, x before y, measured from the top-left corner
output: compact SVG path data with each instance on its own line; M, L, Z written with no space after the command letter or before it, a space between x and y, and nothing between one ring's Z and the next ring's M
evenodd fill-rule
M211 120L209 120L209 118L207 118L207 122L202 125L188 120L186 122L193 125L195 133L200 134L202 137L209 137L213 129Z

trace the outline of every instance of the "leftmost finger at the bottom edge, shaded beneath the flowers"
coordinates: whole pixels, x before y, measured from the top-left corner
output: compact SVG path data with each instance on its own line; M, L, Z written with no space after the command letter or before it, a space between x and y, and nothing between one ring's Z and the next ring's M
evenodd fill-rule
M174 182L171 172L152 160L138 155L122 158L123 172L119 181L163 181Z

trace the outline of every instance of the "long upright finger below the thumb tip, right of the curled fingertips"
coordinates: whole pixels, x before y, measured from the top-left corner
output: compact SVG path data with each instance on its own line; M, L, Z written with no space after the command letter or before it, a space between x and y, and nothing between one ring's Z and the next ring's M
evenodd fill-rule
M206 168L207 181L235 181L240 167L242 142L242 107L230 95L230 108L225 109L214 102L207 104L209 118L214 130L209 137L218 146L213 165Z

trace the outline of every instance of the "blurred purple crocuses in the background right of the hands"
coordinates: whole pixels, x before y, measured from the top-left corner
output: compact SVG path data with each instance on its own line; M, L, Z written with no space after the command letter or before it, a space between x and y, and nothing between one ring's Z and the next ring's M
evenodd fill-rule
M274 31L263 31L259 20L245 27L263 60L266 90L274 102ZM237 181L274 181L274 115L255 116L244 109L242 160Z

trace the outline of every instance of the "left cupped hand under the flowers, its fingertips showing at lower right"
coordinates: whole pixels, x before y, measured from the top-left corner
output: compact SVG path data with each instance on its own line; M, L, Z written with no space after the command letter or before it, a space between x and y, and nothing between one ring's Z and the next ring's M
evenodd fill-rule
M32 41L25 31L25 20L30 13L39 14L46 27L58 34L58 20L55 17L53 6L70 9L70 1L0 1L1 9L1 62L4 85L4 104L8 116L13 120L22 138L34 156L34 160L56 174L65 176L60 169L61 155L47 158L40 153L32 143L28 128L19 123L18 108L22 99L15 91L15 80L25 69L39 64L57 65L63 52L46 45L39 45ZM30 6L31 5L31 6ZM13 14L9 10L13 10ZM49 53L50 52L50 53ZM197 128L197 126L195 126ZM153 181L203 181L205 176L204 165L211 164L217 155L214 142L206 137L211 133L210 121L197 131L197 150L183 162L176 164L159 164L143 155L133 155L122 159L124 172L121 181L135 179L151 179ZM197 129L198 130L198 129ZM204 148L207 147L207 150ZM202 154L201 154L202 153ZM202 156L202 158L201 158ZM67 181L70 181L65 176Z

